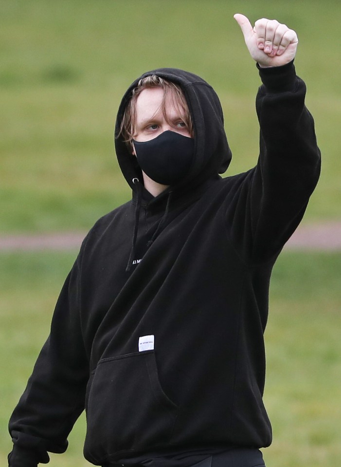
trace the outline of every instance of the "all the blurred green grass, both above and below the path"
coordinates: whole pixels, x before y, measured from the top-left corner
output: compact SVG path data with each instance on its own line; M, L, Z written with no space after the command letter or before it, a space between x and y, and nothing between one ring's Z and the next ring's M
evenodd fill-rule
M0 0L0 237L84 234L127 201L113 128L128 85L177 67L213 85L233 151L228 174L258 154L259 76L234 13L276 18L299 36L323 170L303 224L341 222L339 1ZM0 461L8 418L49 332L77 248L0 250ZM266 331L269 467L341 460L341 254L285 250L273 273ZM83 460L84 417L52 466ZM339 461L339 463L338 463Z

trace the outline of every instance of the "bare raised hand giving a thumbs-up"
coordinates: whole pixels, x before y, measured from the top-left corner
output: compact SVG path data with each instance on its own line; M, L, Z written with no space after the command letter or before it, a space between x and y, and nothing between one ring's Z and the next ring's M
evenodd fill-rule
M258 19L252 28L249 19L235 14L251 57L260 67L286 65L296 55L298 38L295 31L276 19Z

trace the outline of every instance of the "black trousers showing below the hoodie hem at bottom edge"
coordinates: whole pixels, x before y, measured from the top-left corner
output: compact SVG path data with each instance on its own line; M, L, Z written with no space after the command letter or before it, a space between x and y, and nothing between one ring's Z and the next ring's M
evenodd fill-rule
M265 467L259 449L231 449L198 462L192 467Z

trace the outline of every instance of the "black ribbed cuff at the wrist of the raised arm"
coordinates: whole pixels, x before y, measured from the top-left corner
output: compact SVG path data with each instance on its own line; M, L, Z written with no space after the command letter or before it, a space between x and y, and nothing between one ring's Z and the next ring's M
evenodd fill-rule
M257 68L268 93L283 93L295 90L296 72L293 60L286 65L271 68L261 68L257 63Z

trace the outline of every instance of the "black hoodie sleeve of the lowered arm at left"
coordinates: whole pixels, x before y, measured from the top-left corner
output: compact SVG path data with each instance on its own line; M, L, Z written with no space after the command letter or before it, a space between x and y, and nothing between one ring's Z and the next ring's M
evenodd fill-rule
M79 269L77 259L58 298L50 336L10 418L10 467L35 467L49 462L47 451L64 452L84 409L89 363L79 318Z

